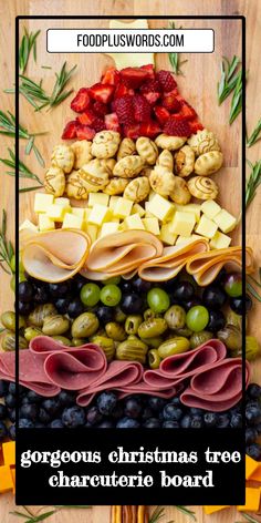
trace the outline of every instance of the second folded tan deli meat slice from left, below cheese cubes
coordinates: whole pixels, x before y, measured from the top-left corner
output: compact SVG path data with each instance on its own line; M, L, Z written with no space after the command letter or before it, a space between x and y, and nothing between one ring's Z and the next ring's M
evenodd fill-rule
M163 244L154 234L124 230L102 237L93 244L86 269L109 276L126 274L161 254Z

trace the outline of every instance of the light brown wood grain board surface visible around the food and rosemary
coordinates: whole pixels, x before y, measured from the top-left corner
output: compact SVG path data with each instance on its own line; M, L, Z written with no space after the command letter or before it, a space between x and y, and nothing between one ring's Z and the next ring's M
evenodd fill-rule
M248 129L251 131L261 115L261 62L260 62L260 32L261 32L261 3L259 0L182 0L181 2L170 0L95 0L92 2L85 0L0 0L0 90L1 106L3 111L14 111L14 100L12 95L3 94L3 89L11 88L14 82L14 18L15 16L51 16L51 14L88 14L88 16L167 16L175 20L175 16L185 14L244 14L247 17L247 120ZM77 63L76 73L72 80L75 90L83 85L90 85L98 81L101 72L112 61L103 54L49 54L45 49L45 30L49 28L74 27L74 28L106 28L106 20L96 21L63 21L63 20L30 20L25 25L29 30L41 29L38 39L38 61L36 64L30 60L28 73L30 78L39 81L44 79L46 90L51 89L54 81L54 72L61 69L64 60L67 60L69 66ZM164 27L161 20L150 20L149 27ZM184 55L188 62L184 65L185 76L178 78L180 91L185 98L197 109L203 124L215 131L221 143L225 154L225 166L215 176L220 187L220 202L229 211L239 214L241 202L241 131L240 117L230 127L228 124L230 100L227 100L221 107L217 105L217 81L220 75L220 61L222 55L232 58L233 54L241 55L241 22L238 20L180 20L177 25L186 28L203 27L213 28L216 31L216 50L213 54L190 54ZM20 22L20 31L24 22ZM169 69L167 54L156 57L157 68ZM42 65L49 65L52 69L41 69ZM36 144L42 156L49 165L49 158L53 145L59 143L61 132L65 121L73 117L70 110L70 99L51 112L42 111L34 113L32 106L21 100L20 122L31 132L48 131L44 137L39 137ZM7 146L11 145L10 139L1 137L1 157L7 157ZM44 171L39 166L31 154L24 158L24 144L20 147L21 160L30 166L31 171L39 176L43 176ZM261 146L254 145L248 151L247 156L251 161L257 161L261 155ZM0 207L8 212L8 233L10 238L14 232L14 187L13 180L4 174L4 166L0 165L1 186L0 186ZM33 218L32 212L33 194L25 193L20 198L20 219L25 217ZM257 265L261 263L260 246L260 213L261 211L261 189L247 213L247 240L254 249ZM240 228L234 233L234 242L240 242ZM9 277L1 273L1 293L0 311L10 309L13 306L13 294L10 290ZM250 330L260 336L259 332L260 306L254 304L254 309L250 315ZM261 363L253 366L253 379L261 381ZM92 500L86 494L86 503L92 504ZM44 507L45 509L45 507ZM10 515L14 510L13 496L10 494L0 496L0 521L12 523L21 521ZM34 509L35 512L39 507ZM236 511L229 511L205 516L201 507L192 507L196 512L198 523L233 523L240 520ZM175 520L176 523L189 521L185 515L174 507L166 507L166 519L163 523ZM94 506L91 510L63 510L50 517L50 523L108 523L109 507Z

